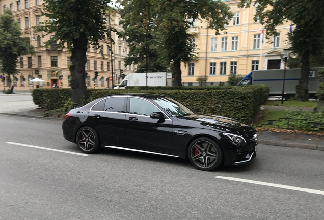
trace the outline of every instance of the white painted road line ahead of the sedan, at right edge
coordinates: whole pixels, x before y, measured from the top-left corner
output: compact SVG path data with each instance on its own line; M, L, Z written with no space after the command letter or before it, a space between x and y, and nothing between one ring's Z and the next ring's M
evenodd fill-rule
M295 186L287 186L287 185L281 185L281 184L275 184L275 183L267 183L267 182L247 180L247 179L240 179L240 178L234 178L234 177L216 176L216 178L226 179L226 180L233 180L233 181L238 181L238 182L246 182L246 183L258 184L258 185L272 186L272 187L277 187L277 188L291 189L291 190L296 190L296 191L303 191L303 192L306 192L306 193L324 195L324 191L315 190L315 189L300 188L300 187L295 187Z

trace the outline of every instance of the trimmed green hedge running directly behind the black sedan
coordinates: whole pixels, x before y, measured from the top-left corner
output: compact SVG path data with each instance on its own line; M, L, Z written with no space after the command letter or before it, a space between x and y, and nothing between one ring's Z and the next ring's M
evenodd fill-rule
M83 104L117 93L154 93L172 97L197 112L221 115L249 123L262 104L267 101L269 88L265 85L242 86L214 90L110 90L89 89ZM36 105L45 109L62 108L71 97L71 89L35 89Z

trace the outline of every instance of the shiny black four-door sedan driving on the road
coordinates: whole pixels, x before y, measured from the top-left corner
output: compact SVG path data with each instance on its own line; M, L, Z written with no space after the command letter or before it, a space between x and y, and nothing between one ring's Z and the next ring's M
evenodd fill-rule
M211 171L256 156L253 127L230 118L199 114L180 102L155 94L117 94L96 99L66 114L66 140L84 153L114 148L189 158Z

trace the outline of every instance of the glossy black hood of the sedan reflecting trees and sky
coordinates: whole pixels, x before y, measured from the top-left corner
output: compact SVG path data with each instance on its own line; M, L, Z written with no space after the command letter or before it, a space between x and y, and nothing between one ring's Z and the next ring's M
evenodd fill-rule
M255 129L250 125L223 116L195 114L180 117L178 118L178 120L183 123L199 123L202 126L211 127L214 129L222 130L224 132L255 132Z

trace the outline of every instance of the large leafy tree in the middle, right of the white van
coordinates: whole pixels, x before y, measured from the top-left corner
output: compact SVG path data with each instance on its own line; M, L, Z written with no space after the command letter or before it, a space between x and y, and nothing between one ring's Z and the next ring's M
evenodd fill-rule
M229 7L221 0L120 0L121 15L126 22L123 28L133 29L137 37L127 39L129 45L143 47L145 34L153 33L153 39L158 39L158 57L166 65L172 65L174 85L181 84L181 62L191 62L195 57L193 36L188 29L195 19L208 20L208 26L220 34L224 25L232 17ZM136 43L135 43L136 42ZM143 51L143 50L142 50ZM141 56L140 56L141 57ZM142 55L143 57L143 55Z

